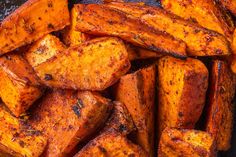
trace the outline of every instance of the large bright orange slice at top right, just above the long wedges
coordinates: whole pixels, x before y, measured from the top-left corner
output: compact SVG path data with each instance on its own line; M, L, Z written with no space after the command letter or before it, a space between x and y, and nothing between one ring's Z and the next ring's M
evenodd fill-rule
M234 23L230 15L215 0L161 0L164 9L199 23L232 40Z

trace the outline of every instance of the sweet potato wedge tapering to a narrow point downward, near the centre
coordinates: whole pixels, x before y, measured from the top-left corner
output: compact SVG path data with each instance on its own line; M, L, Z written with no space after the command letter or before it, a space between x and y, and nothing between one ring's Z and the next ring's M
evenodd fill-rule
M121 77L115 88L115 99L130 112L137 132L134 140L149 156L154 154L155 65Z

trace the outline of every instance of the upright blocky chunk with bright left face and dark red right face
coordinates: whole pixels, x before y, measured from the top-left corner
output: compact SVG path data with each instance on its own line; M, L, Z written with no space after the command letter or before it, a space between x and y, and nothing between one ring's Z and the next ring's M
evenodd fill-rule
M159 137L166 127L194 128L208 87L205 65L192 58L163 57L158 62L158 84Z

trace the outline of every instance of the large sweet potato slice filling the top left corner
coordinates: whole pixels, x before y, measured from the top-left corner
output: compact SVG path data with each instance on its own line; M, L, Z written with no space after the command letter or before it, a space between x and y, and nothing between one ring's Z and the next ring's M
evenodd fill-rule
M29 0L0 25L0 55L70 23L67 0Z

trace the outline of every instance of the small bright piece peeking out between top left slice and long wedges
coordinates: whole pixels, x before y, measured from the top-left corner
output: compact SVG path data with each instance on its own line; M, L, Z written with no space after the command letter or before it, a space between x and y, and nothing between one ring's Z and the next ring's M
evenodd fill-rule
M63 42L67 46L76 46L89 39L89 35L76 30L76 18L78 16L76 8L71 10L71 25L63 32Z

